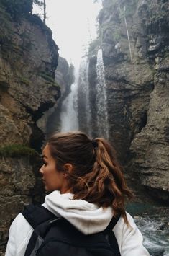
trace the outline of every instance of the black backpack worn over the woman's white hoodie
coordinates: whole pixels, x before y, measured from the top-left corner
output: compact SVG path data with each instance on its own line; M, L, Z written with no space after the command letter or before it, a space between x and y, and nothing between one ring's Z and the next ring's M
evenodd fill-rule
M34 228L24 256L120 256L112 231L119 216L104 231L85 235L43 206L26 206L22 214Z

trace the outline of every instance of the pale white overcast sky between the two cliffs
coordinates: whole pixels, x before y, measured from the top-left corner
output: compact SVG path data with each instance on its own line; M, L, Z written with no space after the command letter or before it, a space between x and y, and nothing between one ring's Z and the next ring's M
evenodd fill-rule
M93 0L46 0L46 24L60 48L59 55L77 65L86 44L96 38L96 17L101 4ZM34 8L34 13L40 9ZM42 13L42 11L41 11Z

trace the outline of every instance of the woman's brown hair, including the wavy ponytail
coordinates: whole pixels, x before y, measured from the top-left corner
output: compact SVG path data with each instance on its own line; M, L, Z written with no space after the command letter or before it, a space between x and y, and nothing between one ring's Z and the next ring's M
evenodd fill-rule
M112 206L114 215L120 213L128 222L124 198L131 198L132 193L124 181L114 149L104 138L92 140L82 132L56 133L47 144L59 171L65 171L67 163L73 166L68 178L74 199Z

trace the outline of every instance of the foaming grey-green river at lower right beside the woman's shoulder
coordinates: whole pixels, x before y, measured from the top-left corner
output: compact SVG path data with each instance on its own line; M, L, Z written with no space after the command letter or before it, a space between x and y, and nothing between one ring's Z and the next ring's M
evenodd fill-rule
M130 203L127 211L134 217L150 256L169 256L169 208L147 203Z

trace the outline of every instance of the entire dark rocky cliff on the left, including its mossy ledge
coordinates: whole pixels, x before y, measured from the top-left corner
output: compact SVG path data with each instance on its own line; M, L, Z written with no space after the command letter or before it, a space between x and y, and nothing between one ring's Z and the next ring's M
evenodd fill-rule
M52 40L52 32L29 9L16 16L6 3L0 2L2 247L9 224L24 204L40 201L40 159L33 149L40 150L44 134L37 120L60 97L60 87L55 82L58 46Z

